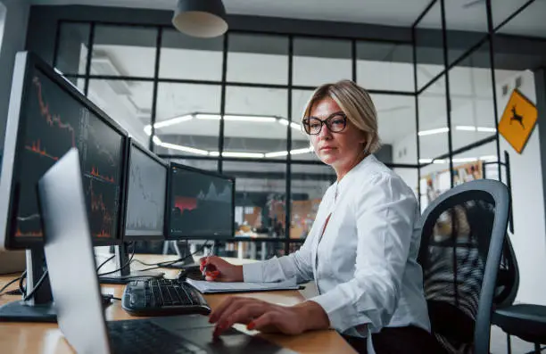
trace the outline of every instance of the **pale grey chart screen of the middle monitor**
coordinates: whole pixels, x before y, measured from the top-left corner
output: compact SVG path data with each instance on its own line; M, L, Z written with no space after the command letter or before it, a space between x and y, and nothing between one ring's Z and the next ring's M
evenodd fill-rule
M168 169L152 152L131 144L125 241L164 237Z

